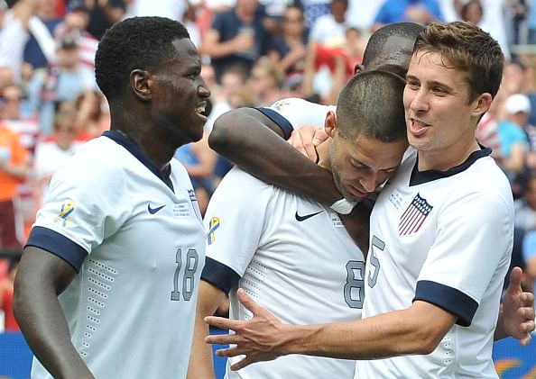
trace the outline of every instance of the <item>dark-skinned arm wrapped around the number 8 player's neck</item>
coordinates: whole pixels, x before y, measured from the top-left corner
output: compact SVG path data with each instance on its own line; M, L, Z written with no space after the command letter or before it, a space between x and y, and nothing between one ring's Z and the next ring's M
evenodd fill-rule
M217 119L208 143L265 182L328 205L340 200L331 173L283 140L290 132L258 110L239 108Z

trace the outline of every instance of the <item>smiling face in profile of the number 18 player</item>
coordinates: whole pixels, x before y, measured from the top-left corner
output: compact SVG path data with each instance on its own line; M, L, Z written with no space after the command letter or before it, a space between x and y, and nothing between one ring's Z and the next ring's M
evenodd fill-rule
M203 136L207 117L201 113L210 91L200 76L201 59L194 44L183 38L173 41L173 47L175 58L153 74L151 113L154 122L180 146Z

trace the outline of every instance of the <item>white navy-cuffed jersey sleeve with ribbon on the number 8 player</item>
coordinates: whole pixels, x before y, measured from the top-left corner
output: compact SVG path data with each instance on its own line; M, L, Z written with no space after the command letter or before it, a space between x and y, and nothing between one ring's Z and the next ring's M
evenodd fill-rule
M262 243L273 186L234 167L217 186L205 214L206 263L201 278L228 293Z

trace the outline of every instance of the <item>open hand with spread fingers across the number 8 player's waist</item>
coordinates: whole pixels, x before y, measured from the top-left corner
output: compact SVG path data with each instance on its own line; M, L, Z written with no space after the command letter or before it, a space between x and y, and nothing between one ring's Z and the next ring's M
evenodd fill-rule
M234 371L254 362L269 361L281 356L277 349L282 347L285 341L285 333L282 330L284 324L280 320L254 302L243 289L238 289L236 294L245 308L253 313L251 320L229 320L214 316L205 318L205 322L210 326L235 331L235 334L210 335L205 338L209 344L236 345L217 350L217 356L245 355L244 359L231 365L231 370Z

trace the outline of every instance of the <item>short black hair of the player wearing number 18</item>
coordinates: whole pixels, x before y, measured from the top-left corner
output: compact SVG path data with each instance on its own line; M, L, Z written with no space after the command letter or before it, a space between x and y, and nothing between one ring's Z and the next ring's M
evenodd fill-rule
M132 17L108 29L95 56L97 84L108 100L121 95L130 73L151 70L172 59L171 42L189 38L181 23L165 17Z

